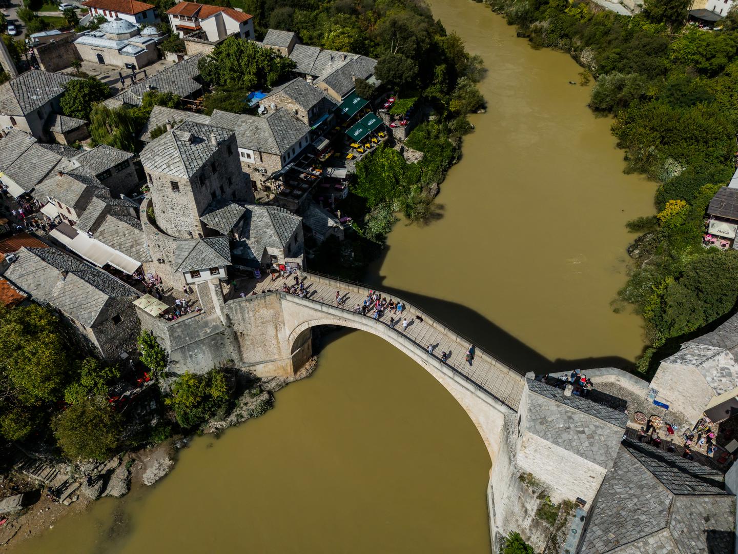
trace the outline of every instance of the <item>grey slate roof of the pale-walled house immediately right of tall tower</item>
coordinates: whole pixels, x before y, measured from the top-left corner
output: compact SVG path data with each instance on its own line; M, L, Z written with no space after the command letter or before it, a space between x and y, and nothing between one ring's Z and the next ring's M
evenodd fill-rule
M284 108L263 117L213 110L210 123L235 131L239 148L281 155L310 131Z

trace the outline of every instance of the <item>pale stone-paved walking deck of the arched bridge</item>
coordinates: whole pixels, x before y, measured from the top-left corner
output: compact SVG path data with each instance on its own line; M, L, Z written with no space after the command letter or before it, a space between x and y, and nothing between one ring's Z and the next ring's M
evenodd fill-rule
M311 301L320 302L326 306L339 308L347 312L356 313L356 304L362 304L367 297L370 288L361 284L352 284L345 281L337 281L326 276L319 276L314 273L300 272L300 279L307 290L307 296ZM259 294L272 291L282 290L283 284L294 284L294 275L288 277L280 277L272 281L267 276L259 282L252 281L248 287L249 290ZM243 290L241 287L239 287ZM336 292L339 291L342 304L336 303ZM475 347L475 358L472 366L465 360L465 355L469 346L472 346L466 338L463 338L457 332L444 326L441 321L433 318L413 304L404 301L397 296L383 293L376 290L377 293L389 300L401 301L404 305L402 315L397 312L386 310L384 315L377 321L393 329L404 340L413 344L413 347L421 349L425 355L432 356L437 360L441 360L441 352L449 354L446 365L449 366L456 374L463 376L477 388L482 389L495 399L506 404L506 406L517 411L520 405L520 397L523 394L524 377L515 369L506 366L494 355L484 352L479 347ZM249 293L250 294L250 293ZM373 311L368 312L365 317L373 320ZM415 318L419 315L422 318ZM390 318L395 319L394 326L390 326ZM402 332L402 319L407 318L410 322L406 332ZM433 345L432 354L428 352L428 346Z

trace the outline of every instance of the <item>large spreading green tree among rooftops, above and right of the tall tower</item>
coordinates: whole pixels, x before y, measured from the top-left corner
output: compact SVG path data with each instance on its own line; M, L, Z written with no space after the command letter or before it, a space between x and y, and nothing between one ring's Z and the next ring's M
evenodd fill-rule
M253 41L229 37L199 62L202 78L215 85L246 91L271 87L288 75L294 61Z

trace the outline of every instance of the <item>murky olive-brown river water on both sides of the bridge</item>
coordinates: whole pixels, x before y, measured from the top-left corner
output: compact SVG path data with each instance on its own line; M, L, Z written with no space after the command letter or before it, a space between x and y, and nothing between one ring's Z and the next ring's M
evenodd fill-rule
M483 4L431 4L483 56L488 112L444 182L443 219L397 225L368 280L524 371L632 361L640 321L610 301L624 222L652 211L652 185L621 173L610 122L568 84L568 56L531 49ZM381 339L329 340L274 410L193 440L154 488L95 502L15 551L489 552L489 456L461 407Z

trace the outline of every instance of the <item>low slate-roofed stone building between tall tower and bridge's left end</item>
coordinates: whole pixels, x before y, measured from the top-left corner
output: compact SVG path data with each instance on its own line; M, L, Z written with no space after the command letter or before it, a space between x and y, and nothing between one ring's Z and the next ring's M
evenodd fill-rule
M254 269L302 268L302 218L277 206L215 200L202 221L232 239L234 264Z

